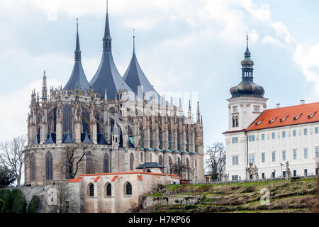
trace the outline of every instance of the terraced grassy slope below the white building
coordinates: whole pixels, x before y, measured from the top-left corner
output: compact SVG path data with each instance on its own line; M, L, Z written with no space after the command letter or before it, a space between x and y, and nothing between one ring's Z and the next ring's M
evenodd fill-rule
M262 205L261 190L267 188L270 204ZM143 212L313 212L318 209L318 182L316 178L297 182L277 180L237 184L170 185L151 194L160 199L176 197L175 204L147 208ZM178 199L179 198L179 199ZM195 204L188 199L197 198ZM184 202L182 202L184 201Z

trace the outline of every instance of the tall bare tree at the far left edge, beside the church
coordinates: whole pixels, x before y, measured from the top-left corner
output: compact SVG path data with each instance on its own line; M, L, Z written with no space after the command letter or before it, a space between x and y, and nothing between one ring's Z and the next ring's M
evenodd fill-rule
M26 153L24 147L26 145L26 137L13 138L11 141L0 143L0 161L9 167L16 177L18 188L20 187L21 177L24 172L24 163L26 161Z

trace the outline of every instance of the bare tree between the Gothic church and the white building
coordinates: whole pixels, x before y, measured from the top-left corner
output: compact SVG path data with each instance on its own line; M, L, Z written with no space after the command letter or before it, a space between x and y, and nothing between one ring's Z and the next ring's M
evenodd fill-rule
M223 143L213 143L206 150L205 164L213 180L220 180L225 172L226 151Z

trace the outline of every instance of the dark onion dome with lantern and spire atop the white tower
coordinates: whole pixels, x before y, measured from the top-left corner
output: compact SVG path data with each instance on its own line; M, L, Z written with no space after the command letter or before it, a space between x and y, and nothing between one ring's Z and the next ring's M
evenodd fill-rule
M245 59L242 60L242 82L236 87L230 89L232 98L250 96L263 98L264 88L253 82L254 62L250 59L250 50L248 48L248 35L247 35L247 49L245 52Z

